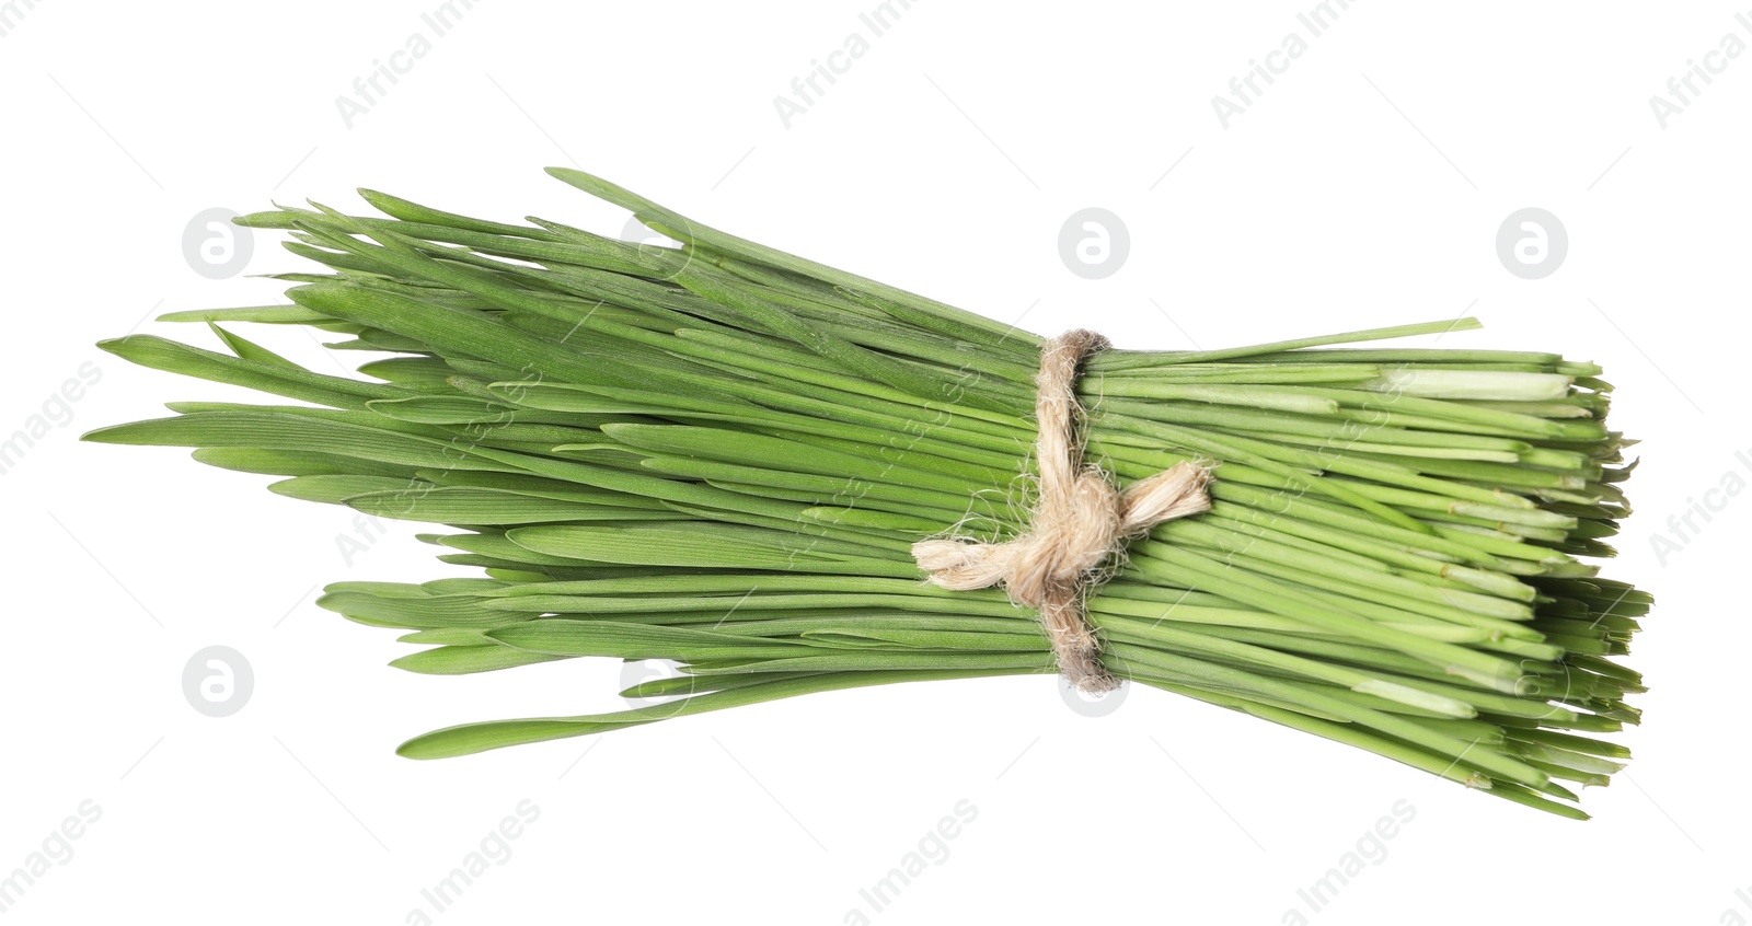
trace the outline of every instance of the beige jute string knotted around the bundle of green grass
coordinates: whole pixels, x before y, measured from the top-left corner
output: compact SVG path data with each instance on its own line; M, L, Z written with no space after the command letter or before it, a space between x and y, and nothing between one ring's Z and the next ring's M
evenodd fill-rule
M1041 350L1034 410L1041 434L1034 445L1041 469L1039 499L1027 530L1007 543L930 539L913 544L913 560L943 588L1002 585L1011 600L1034 607L1051 639L1058 670L1081 691L1120 686L1100 663L1100 641L1083 614L1095 572L1125 541L1151 527L1211 508L1211 473L1181 462L1120 492L1106 473L1083 464L1077 371L1084 357L1107 348L1093 331L1067 331Z

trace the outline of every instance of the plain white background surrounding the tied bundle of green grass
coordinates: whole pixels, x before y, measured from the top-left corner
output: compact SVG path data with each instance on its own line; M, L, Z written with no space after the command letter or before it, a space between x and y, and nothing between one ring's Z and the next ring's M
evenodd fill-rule
M0 476L0 875L81 802L102 809L7 921L1752 921L1736 592L1752 497L1708 495L1724 504L1696 537L1668 523L1729 473L1752 481L1734 457L1752 459L1752 53L1712 58L1724 70L1664 128L1649 103L1724 35L1752 44L1734 5L1365 2L1309 39L1310 0L920 0L788 128L774 98L869 37L872 0L482 2L433 39L436 5L4 5L0 436L61 424ZM336 98L415 33L431 51L349 128ZM1305 54L1225 128L1212 96L1288 33ZM408 525L349 565L342 508L175 450L79 443L163 401L245 399L93 343L138 326L210 347L144 319L277 301L270 280L191 270L184 226L207 208L363 208L350 191L370 186L620 231L548 165L1034 331L1211 348L1470 310L1487 329L1442 347L1603 362L1615 425L1645 441L1610 574L1661 600L1635 646L1654 686L1624 737L1638 760L1589 789L1596 819L1568 823L1153 690L1086 718L1044 677L396 758L464 719L617 709L620 667L385 667L394 634L317 609L317 588L461 571ZM1056 250L1084 207L1130 229L1100 282ZM1544 280L1494 250L1522 207L1568 229ZM249 273L296 268L256 236ZM245 334L331 364L298 331ZM51 396L86 362L102 378L68 420ZM1678 550L1656 557L1657 536ZM231 718L180 690L212 644L254 667ZM433 914L420 889L526 798L540 817L512 856ZM978 817L948 858L872 912L858 891L962 800ZM1416 817L1386 858L1310 912L1296 891L1402 800Z

